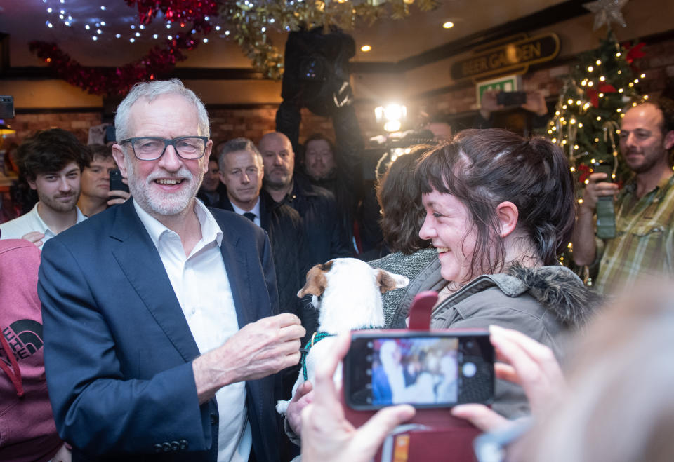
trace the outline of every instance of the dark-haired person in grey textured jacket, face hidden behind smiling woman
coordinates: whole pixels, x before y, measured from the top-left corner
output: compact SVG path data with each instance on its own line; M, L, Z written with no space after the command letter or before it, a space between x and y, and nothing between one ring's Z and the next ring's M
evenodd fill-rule
M421 205L421 189L414 179L414 168L422 154L432 149L419 145L409 154L402 154L389 165L377 185L377 201L381 208L379 224L384 241L391 252L386 257L369 261L373 268L402 274L409 280L425 280L423 275L440 270L437 252L430 241L419 237L425 210ZM389 290L382 294L385 326L404 329L404 307L418 293L414 287Z

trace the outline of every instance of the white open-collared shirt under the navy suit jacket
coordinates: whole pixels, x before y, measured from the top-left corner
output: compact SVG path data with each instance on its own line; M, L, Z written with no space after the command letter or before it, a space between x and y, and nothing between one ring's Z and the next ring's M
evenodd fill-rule
M218 222L201 201L194 201L201 240L186 257L177 233L151 217L136 201L133 206L157 247L199 353L222 345L238 332L239 322L220 253L223 231ZM253 437L246 411L246 383L220 388L216 400L220 414L218 462L248 461Z

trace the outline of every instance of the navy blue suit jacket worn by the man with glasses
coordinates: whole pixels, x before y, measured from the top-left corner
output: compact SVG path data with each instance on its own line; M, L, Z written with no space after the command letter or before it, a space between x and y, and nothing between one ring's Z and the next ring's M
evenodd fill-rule
M235 213L211 212L239 326L277 314L266 233ZM199 406L199 349L132 201L48 240L38 292L49 397L74 461L216 461L216 400ZM276 375L246 382L258 461L279 460L278 390Z

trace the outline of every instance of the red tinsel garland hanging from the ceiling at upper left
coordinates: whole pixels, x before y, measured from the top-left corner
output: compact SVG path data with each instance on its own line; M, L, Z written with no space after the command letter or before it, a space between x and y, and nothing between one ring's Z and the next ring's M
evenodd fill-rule
M184 27L191 23L195 34L206 36L211 24L206 18L217 14L213 0L125 0L129 6L138 5L141 24L149 24L161 11L167 21L180 22ZM195 34L188 32L167 40L164 46L154 46L139 60L122 67L83 66L61 50L56 43L32 41L29 49L56 70L61 79L93 95L125 95L134 83L153 80L157 74L170 72L176 62L187 57L182 50L192 50L198 45Z

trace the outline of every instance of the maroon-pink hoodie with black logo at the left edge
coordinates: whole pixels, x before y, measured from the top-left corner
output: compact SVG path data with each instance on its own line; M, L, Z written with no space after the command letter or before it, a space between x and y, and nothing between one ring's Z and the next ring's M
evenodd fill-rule
M62 442L44 378L40 251L0 240L0 461L48 461Z

